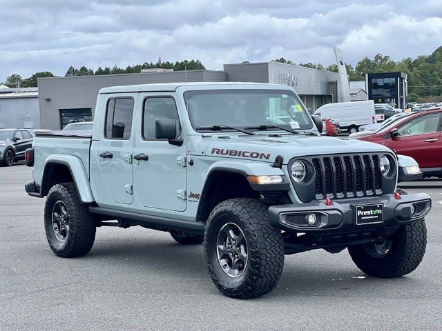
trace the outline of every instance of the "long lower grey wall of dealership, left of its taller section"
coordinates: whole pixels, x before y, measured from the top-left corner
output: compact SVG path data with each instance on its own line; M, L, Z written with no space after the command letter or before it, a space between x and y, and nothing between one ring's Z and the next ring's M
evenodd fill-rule
M98 91L111 86L184 81L226 81L225 72L189 70L148 72L144 74L112 74L102 76L41 78L39 106L41 128L60 129L60 109L91 108L95 112ZM50 98L50 101L45 99Z

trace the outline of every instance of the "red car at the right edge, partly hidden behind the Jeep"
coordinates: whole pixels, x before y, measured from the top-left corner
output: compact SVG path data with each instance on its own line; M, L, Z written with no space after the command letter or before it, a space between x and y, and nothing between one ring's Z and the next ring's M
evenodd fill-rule
M380 143L419 163L423 177L442 177L442 109L405 117L385 130L356 138Z

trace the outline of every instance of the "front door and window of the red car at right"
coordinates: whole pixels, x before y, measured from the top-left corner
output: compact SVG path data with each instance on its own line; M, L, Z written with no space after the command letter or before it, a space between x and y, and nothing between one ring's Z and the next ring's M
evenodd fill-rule
M415 117L398 127L399 137L387 138L385 146L408 155L421 168L441 168L441 113Z

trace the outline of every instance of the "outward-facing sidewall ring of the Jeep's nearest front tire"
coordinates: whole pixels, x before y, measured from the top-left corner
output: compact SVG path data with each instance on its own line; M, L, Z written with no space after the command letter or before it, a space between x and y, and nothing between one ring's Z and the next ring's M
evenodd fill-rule
M247 243L247 265L245 266L244 272L240 274L238 277L230 277L227 275L218 261L218 252L217 252L217 239L218 233L221 228L227 224L233 223L242 230L244 234L244 239ZM229 290L235 290L236 292L242 292L242 287L244 287L244 281L246 281L247 277L249 277L249 273L251 272L251 261L253 260L253 255L256 254L253 252L251 241L250 241L250 231L247 226L244 224L244 221L238 215L233 212L222 211L217 214L213 220L211 221L211 226L209 231L206 232L206 236L204 237L204 243L206 246L206 261L208 262L209 268L211 268L211 276L214 281L216 281L220 286ZM244 288L245 290L245 288Z

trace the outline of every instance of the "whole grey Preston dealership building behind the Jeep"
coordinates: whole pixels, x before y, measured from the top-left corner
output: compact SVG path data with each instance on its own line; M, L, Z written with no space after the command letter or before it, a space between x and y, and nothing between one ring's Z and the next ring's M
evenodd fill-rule
M138 74L40 78L41 128L59 130L74 121L92 121L98 91L109 86L146 83L241 81L292 86L310 112L326 103L345 100L337 72L287 63L225 64L224 70L143 70ZM347 83L347 82L343 82Z

